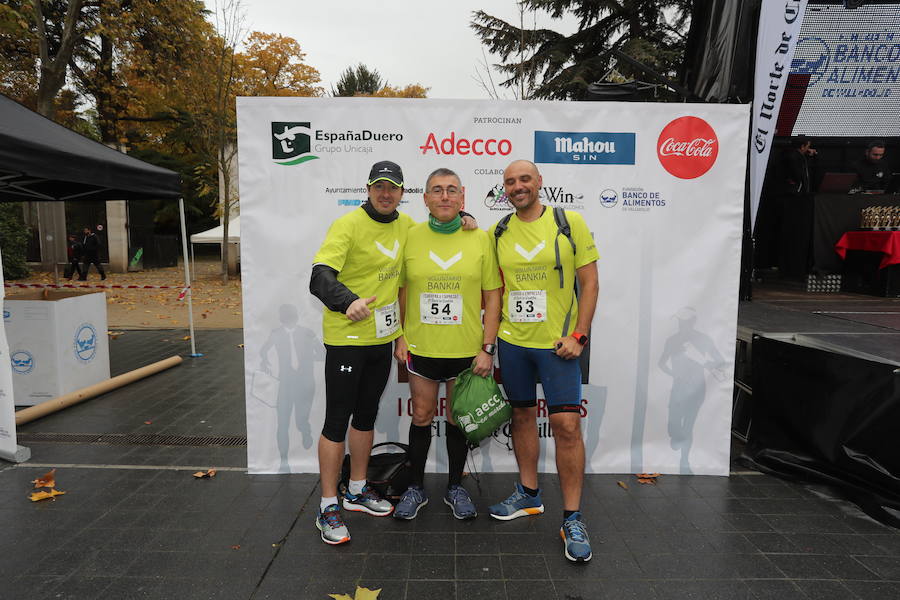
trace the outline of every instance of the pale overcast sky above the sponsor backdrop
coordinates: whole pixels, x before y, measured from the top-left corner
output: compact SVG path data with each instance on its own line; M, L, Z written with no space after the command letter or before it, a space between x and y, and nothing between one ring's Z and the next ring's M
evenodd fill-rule
M212 10L216 0L205 0ZM218 0L221 6L222 0ZM315 67L322 87L331 91L349 66L363 63L378 70L395 87L418 83L429 98L485 99L491 96L477 80L487 81L483 46L469 27L472 13L517 23L515 0L242 0L247 31L280 33L300 43L306 64ZM576 22L526 15L526 26L562 33ZM486 52L486 50L485 50ZM488 56L491 63L499 58ZM494 82L500 77L494 73ZM496 85L498 97L512 92Z

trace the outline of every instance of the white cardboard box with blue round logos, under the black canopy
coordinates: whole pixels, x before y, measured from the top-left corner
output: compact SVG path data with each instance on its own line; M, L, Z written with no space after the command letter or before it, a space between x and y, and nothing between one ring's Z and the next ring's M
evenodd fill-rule
M3 301L16 406L109 379L106 294L34 290Z

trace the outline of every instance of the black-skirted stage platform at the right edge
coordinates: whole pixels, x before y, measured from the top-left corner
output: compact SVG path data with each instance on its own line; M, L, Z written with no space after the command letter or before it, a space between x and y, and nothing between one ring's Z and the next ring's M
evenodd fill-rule
M900 300L756 286L738 308L732 432L753 468L900 527Z

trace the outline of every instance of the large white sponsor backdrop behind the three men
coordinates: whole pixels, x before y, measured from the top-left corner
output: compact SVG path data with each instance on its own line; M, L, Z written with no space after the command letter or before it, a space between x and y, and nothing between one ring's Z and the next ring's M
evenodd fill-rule
M727 474L748 120L746 105L238 99L250 472L318 470L312 257L330 223L365 201L371 165L400 164L400 210L416 221L428 173L453 169L466 210L488 228L511 210L504 168L529 159L543 202L583 214L600 252L582 362L587 471ZM376 442L407 439L401 379L395 367ZM540 470L552 472L543 404L538 417ZM470 468L515 471L508 433L473 452ZM445 452L432 444L429 470L446 470Z

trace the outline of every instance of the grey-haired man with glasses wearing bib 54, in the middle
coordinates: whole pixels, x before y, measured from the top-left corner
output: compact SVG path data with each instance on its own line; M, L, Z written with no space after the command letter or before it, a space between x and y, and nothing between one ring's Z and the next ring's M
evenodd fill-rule
M397 339L394 355L398 361L405 361L409 370L412 474L394 517L414 519L428 504L423 486L425 462L438 393L444 382L448 400L448 483L444 503L457 519L472 519L477 511L462 487L468 445L453 422L450 402L453 382L460 372L471 366L476 375L493 375L502 283L487 232L462 228L459 211L465 202L465 189L459 176L449 169L437 169L428 176L424 199L428 222L410 229L401 276L404 334Z

